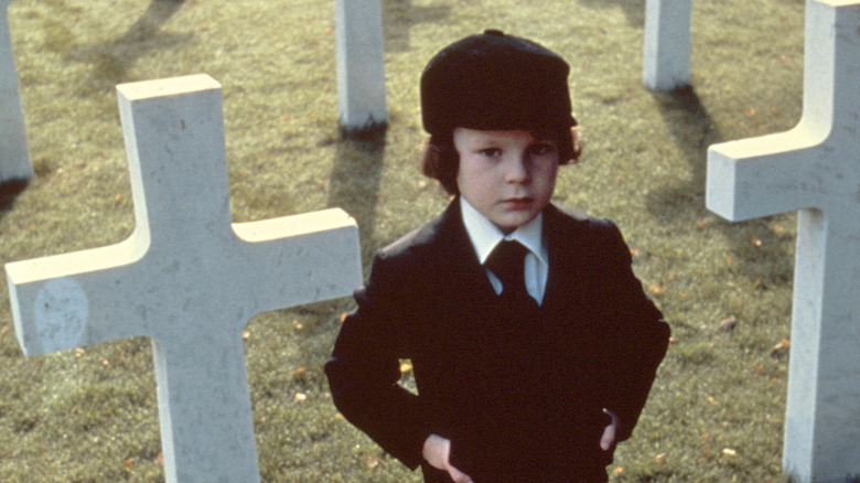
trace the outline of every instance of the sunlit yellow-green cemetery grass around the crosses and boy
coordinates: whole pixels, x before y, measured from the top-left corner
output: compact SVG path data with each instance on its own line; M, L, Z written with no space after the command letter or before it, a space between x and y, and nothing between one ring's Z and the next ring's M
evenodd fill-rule
M804 6L694 4L692 87L656 94L641 83L642 0L383 0L389 126L347 140L331 1L17 0L9 17L36 175L0 211L0 261L129 236L114 87L206 73L224 87L234 219L343 207L359 224L366 270L376 248L447 204L417 167L421 68L450 41L499 28L571 62L585 154L561 170L555 202L621 226L674 331L612 481L786 481L795 218L730 224L705 208L703 186L709 144L799 119ZM264 481L420 481L331 401L322 365L352 308L341 299L249 322ZM0 481L163 481L151 355L132 339L25 358L2 290Z

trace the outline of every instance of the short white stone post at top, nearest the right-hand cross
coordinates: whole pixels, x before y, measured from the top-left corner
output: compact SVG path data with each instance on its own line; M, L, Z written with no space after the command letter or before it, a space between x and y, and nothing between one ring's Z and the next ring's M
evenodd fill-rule
M647 0L642 76L646 87L671 90L690 84L692 0Z

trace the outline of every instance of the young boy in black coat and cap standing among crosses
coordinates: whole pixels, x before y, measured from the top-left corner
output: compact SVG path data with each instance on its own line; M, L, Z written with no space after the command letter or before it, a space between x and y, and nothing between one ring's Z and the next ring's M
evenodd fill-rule
M550 203L579 157L568 73L486 31L421 76L423 171L453 201L376 255L325 371L344 417L426 482L605 482L665 355L615 225Z

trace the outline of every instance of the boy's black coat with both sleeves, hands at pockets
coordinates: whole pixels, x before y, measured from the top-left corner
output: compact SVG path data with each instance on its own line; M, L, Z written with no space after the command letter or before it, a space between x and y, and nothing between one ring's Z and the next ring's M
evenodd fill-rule
M627 439L669 328L614 224L549 205L544 236L544 303L536 320L509 331L459 200L380 250L325 366L344 417L412 469L437 433L476 483L605 480L602 409L619 416L617 439ZM418 395L397 384L404 358Z

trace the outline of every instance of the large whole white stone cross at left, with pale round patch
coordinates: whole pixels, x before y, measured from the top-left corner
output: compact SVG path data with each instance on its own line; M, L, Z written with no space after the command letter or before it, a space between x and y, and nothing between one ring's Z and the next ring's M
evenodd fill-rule
M135 232L7 265L18 337L26 355L151 337L166 481L258 482L243 329L358 287L357 227L341 210L232 224L218 83L117 90Z

